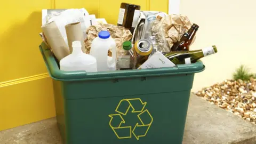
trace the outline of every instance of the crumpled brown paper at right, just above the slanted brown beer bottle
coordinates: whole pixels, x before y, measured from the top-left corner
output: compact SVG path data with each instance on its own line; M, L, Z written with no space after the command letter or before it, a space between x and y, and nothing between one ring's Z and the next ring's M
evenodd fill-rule
M163 17L157 25L156 27L163 27L166 41L169 43L170 47L172 47L173 43L180 41L182 35L190 29L192 23L186 15L170 14ZM194 43L195 39L196 36L191 44Z

